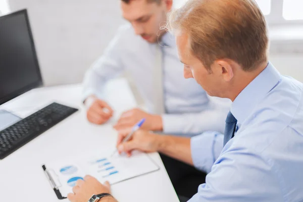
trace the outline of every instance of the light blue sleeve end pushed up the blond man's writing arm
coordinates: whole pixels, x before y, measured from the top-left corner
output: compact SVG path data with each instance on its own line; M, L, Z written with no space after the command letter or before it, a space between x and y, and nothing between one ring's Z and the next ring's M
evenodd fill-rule
M216 131L204 132L190 139L190 148L193 165L210 173L223 149L223 135Z

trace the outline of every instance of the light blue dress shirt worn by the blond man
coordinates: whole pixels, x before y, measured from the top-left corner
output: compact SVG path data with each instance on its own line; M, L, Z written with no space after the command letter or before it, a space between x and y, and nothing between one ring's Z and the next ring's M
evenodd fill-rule
M189 201L303 201L302 92L269 63L234 100L237 131L221 153L222 134L191 139L195 166L210 173Z

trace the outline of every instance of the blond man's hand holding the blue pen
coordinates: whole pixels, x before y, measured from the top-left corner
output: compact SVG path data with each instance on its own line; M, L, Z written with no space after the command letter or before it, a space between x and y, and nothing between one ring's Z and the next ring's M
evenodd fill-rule
M128 157L131 156L132 150L140 150L147 153L158 151L161 141L161 135L154 134L145 130L136 131L129 141L122 143L129 131L124 130L119 133L117 148L119 154L125 152Z

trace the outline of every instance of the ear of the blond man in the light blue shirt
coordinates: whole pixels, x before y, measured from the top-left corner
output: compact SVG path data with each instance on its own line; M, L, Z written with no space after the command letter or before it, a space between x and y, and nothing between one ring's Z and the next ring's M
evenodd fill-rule
M215 61L215 70L213 69L213 71L220 74L226 82L229 82L234 75L232 64L226 60Z

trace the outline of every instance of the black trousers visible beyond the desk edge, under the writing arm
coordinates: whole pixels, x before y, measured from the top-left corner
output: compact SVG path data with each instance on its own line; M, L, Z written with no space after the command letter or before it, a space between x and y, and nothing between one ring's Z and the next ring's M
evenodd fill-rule
M206 173L166 155L160 156L181 201L191 198L197 193L198 186L205 183Z

